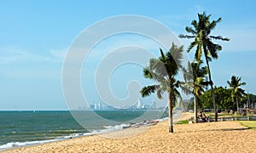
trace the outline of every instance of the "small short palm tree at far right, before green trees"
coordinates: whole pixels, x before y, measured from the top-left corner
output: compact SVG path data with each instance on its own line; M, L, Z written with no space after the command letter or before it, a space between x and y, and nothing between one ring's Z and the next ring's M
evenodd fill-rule
M242 95L247 95L245 90L241 89L240 87L246 85L246 82L241 82L241 77L232 76L231 80L227 83L230 85L233 103L235 103L236 99L236 111L239 111L239 103L241 101Z

